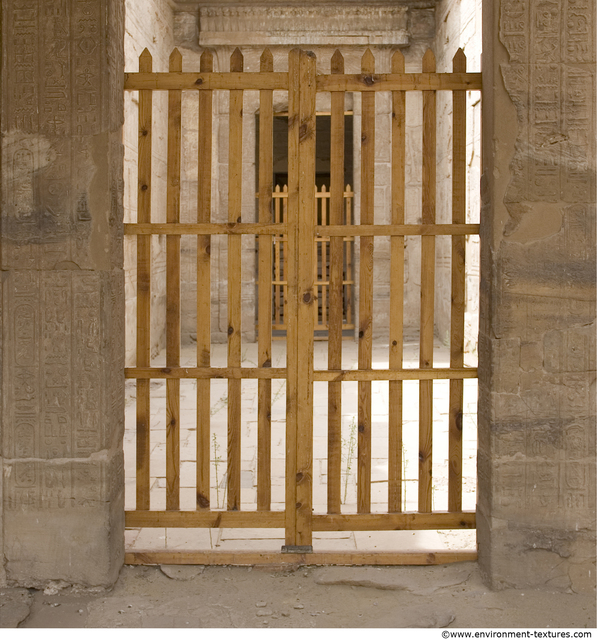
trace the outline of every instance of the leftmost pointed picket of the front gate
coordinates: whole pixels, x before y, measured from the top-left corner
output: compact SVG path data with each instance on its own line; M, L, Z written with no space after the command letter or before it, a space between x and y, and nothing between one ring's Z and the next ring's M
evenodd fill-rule
M139 57L139 71L152 70L147 49ZM151 91L139 91L139 156L137 222L151 222ZM151 236L137 236L137 367L151 364ZM149 509L150 380L137 380L137 509Z

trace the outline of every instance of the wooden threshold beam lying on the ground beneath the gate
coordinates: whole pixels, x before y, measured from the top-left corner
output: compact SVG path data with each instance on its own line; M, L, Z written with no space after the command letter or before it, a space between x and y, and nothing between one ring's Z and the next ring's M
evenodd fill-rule
M234 551L125 551L125 564L194 564L233 565L239 567L271 565L280 567L300 567L313 565L350 566L398 566L398 565L439 565L453 562L474 562L476 551L423 551L388 553L333 552L276 553L276 552L234 552Z

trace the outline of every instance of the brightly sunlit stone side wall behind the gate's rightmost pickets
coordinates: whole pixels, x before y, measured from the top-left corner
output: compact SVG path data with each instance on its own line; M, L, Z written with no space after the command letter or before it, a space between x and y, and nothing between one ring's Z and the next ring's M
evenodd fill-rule
M452 71L452 60L458 48L467 57L468 71L481 71L481 0L441 0L436 8L437 33L435 54L438 71ZM466 147L466 221L479 222L481 208L481 95L467 93ZM448 92L437 94L438 140L446 141L437 147L437 220L452 221L452 98ZM450 238L437 238L437 272L435 288L436 330L439 337L450 339L451 304L451 247ZM466 243L466 309L465 361L476 366L479 332L479 238L470 236Z

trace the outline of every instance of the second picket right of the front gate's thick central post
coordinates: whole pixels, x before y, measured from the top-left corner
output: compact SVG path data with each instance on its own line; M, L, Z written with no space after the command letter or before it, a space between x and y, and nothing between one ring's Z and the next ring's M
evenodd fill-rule
M375 73L375 58L367 49L361 61L363 74ZM361 124L361 224L374 223L375 191L375 93L362 94ZM359 284L359 369L370 369L373 348L373 244L372 236L361 236ZM358 406L357 511L371 511L371 382L360 381Z

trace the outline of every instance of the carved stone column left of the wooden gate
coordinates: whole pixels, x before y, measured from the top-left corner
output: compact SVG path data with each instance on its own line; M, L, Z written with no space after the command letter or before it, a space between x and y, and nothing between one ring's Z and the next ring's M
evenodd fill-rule
M124 555L123 0L2 0L2 562Z

